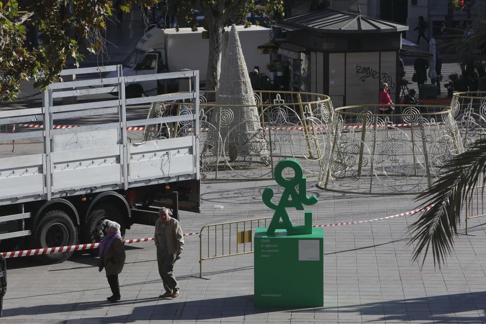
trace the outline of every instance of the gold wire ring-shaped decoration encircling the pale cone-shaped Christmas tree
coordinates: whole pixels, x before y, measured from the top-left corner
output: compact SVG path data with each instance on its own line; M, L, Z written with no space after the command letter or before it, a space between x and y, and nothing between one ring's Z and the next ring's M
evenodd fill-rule
M308 176L319 174L322 147L333 114L328 96L255 91L255 105L218 105L208 101L217 95L214 91L201 92L199 98L203 179L272 179L274 165L287 157L299 160ZM189 112L192 104L184 105ZM179 110L184 114L184 109ZM184 126L179 126L179 131L181 128Z

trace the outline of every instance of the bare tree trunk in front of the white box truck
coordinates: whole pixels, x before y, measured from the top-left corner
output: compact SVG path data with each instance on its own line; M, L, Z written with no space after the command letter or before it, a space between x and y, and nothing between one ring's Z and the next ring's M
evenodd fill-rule
M223 23L219 17L208 19L209 57L206 72L206 90L217 90L221 72L221 52L223 49ZM214 97L211 98L213 101Z

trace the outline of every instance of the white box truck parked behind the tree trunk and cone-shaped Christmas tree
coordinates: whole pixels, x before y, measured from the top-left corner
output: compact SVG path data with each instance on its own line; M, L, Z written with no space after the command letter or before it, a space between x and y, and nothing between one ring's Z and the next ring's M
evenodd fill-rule
M266 64L270 58L268 54L258 54L258 46L270 40L271 30L252 25L248 28L236 26L240 36L240 43L246 67L249 71L259 66L260 72L268 74ZM229 28L223 37L223 57ZM138 42L137 47L123 61L123 75L135 76L152 74L163 71L180 71L183 69L199 70L200 83L206 83L208 70L209 40L202 37L202 28L193 32L191 28L160 29L153 28ZM106 77L114 77L109 73ZM143 81L127 86L127 98L140 97L142 93L156 94L156 81ZM160 92L160 91L159 91Z

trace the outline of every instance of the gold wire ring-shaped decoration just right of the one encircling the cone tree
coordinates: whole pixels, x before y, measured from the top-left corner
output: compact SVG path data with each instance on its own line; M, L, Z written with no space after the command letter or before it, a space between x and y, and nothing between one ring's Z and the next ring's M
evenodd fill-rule
M346 193L417 194L464 150L447 106L336 108L326 138L318 187Z

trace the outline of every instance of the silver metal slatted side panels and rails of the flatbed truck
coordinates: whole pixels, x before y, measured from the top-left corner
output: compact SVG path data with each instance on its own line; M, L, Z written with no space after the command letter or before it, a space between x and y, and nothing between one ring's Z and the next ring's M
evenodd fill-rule
M117 71L119 76L99 78L109 71ZM43 140L43 148L38 152L0 159L0 205L199 179L199 105L194 100L199 97L198 71L131 77L122 76L121 71L121 66L64 70L62 76L95 73L97 78L49 85L43 92L43 107L0 112L0 125L34 122L43 126L40 130L0 134L0 141ZM125 86L132 82L175 78L190 78L195 90L125 98ZM118 99L105 98L114 92ZM77 97L78 102L69 102L70 97ZM146 107L154 102L181 99L196 102L191 114L138 117L146 116ZM133 113L128 119L127 109ZM72 118L83 120L78 120L77 127L53 128L56 120ZM196 132L140 143L130 143L127 137L128 126L187 122Z

